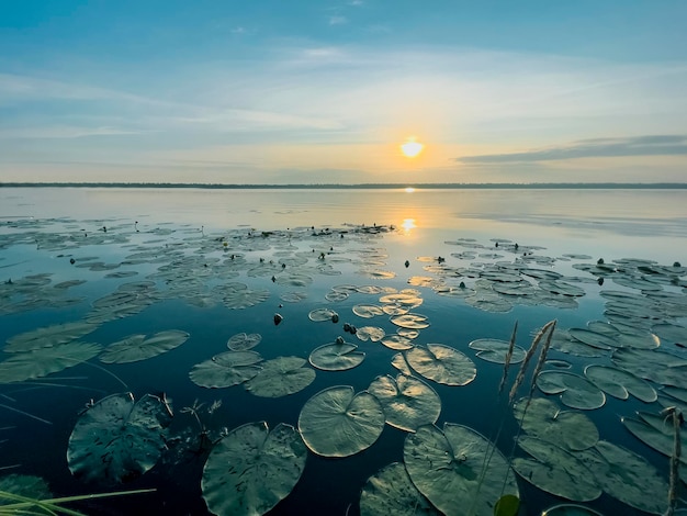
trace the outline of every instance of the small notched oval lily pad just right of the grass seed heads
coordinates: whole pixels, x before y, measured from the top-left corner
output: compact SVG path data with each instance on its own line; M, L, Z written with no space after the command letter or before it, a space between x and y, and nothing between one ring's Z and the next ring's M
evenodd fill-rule
M594 411L606 404L606 395L586 378L566 371L543 371L537 386L544 394L561 394L561 402L571 408Z

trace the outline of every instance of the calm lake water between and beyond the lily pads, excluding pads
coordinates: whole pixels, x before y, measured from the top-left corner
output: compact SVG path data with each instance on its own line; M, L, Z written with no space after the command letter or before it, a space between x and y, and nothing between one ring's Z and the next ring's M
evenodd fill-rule
M0 343L40 327L93 321L94 306L114 304L105 296L117 289L142 288L142 282L150 282L145 284L156 292L148 304L110 318L100 313L97 329L80 340L106 349L134 334L189 334L179 347L147 360L105 363L93 357L45 378L0 383L0 474L42 476L56 496L157 489L154 494L79 505L85 513L206 514L201 475L207 456L184 449L196 422L183 407L199 400L205 411L221 401L213 414L199 414L214 436L222 428L260 420L270 428L279 423L297 426L301 408L319 391L351 385L359 392L378 375L395 377L392 357L399 351L361 340L344 332L342 324L396 334L399 327L390 315L364 318L353 307L382 306L384 293L404 289L416 291L421 304L412 313L428 323L412 344L450 346L473 360L477 371L464 386L425 379L441 399L436 425L465 425L495 440L506 457L523 457L521 449L514 450L515 418L497 396L503 366L476 357L469 344L480 338L508 340L517 321L517 344L527 348L549 321L556 319L561 329L608 321L604 291L639 296L652 292L651 285L634 288L627 278L616 280L618 274L609 273L599 284L598 274L585 267L594 267L599 258L606 263L632 258L667 267L687 265L686 195L684 190L0 189ZM519 273L525 268L540 271L539 277ZM541 271L562 274L555 281L582 292L549 292L545 299L494 292L495 283L513 282L494 279L496 270L536 287L545 282ZM684 273L676 273L673 283L654 284L684 299L686 281ZM460 291L461 282L466 291ZM54 287L60 283L65 285ZM223 302L223 285L236 283L259 293L248 295L250 306ZM23 285L21 295L12 290L16 285ZM336 299L333 288L348 295ZM337 324L308 319L311 311L325 307L339 315ZM275 313L283 316L279 325L273 323ZM618 315L610 316L618 321ZM687 325L679 311L662 317L646 316L650 327L634 326L649 332L651 324L671 324L674 330ZM632 316L628 318L623 323L632 326ZM346 371L317 370L313 383L285 397L256 396L241 385L206 389L192 382L193 367L228 351L227 340L241 332L261 335L252 350L266 360L307 359L313 349L338 336L357 344L365 359ZM663 339L662 349L679 355L675 344ZM582 374L589 363L612 364L611 352L584 358L551 350L549 358L565 360L570 371ZM3 352L0 359L13 355ZM121 485L75 478L66 452L79 414L91 400L125 391L136 399L166 393L174 411L170 451L150 471ZM527 392L525 388L522 394ZM534 396L572 410L558 395L536 390ZM638 410L657 413L662 405L606 397L602 407L584 411L601 438L631 448L667 479L667 458L621 423ZM371 447L351 457L308 452L299 483L271 514L358 514L367 479L403 461L406 435L386 425ZM522 479L518 485L521 514L540 514L563 501ZM608 494L585 505L608 515L637 512Z

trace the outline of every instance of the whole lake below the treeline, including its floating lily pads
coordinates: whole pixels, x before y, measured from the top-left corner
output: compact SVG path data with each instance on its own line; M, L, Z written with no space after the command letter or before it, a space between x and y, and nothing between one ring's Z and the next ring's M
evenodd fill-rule
M685 201L0 188L0 491L155 490L68 505L112 515L661 514Z

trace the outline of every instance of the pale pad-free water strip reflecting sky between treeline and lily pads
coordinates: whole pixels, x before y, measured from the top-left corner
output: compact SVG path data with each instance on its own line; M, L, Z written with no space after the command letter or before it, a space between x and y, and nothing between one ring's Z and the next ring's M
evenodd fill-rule
M444 240L473 237L541 245L550 254L687 262L679 244L687 236L684 191L2 189L0 195L0 216L68 216L93 227L110 218L138 221L142 229L378 224L403 228L403 245L419 247L418 255L447 254Z

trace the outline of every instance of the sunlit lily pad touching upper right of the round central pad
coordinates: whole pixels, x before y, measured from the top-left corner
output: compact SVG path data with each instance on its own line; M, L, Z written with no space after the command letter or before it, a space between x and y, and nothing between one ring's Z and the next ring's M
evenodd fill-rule
M414 377L378 377L368 392L382 403L386 423L402 430L415 431L419 426L432 425L441 413L439 394Z

